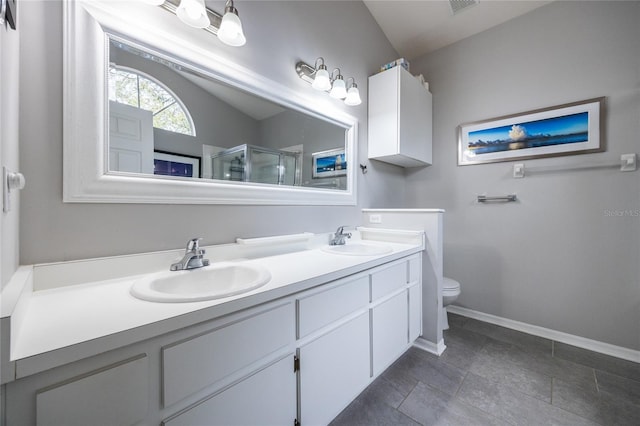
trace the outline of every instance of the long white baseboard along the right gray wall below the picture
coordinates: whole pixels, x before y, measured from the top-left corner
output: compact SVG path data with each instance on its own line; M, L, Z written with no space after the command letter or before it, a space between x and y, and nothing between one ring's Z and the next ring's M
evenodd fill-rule
M447 311L452 314L458 314L464 317L477 319L479 321L500 325L502 327L522 331L523 333L532 334L534 336L544 337L556 342L566 343L567 345L577 346L593 352L640 363L640 351L624 348L622 346L616 346L609 343L599 342L597 340L587 339L585 337L575 336L573 334L563 333L557 330L551 330L549 328L539 327L537 325L485 314L484 312L478 312L460 306L449 305L447 306Z

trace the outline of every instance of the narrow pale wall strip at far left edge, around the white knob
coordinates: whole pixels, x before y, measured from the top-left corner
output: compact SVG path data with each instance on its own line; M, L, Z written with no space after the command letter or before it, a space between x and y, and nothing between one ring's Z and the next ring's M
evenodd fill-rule
M18 25L18 30L20 26ZM0 166L18 167L18 83L20 81L20 33L8 24L0 25ZM1 191L0 191L1 192ZM4 288L18 267L20 193L11 194L11 211L0 211L0 288Z

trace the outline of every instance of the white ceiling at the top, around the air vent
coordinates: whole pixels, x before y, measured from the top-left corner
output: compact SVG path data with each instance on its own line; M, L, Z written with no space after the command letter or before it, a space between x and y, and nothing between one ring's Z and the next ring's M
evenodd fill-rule
M364 0L392 46L412 60L551 3L541 0ZM475 3L475 4L474 4Z

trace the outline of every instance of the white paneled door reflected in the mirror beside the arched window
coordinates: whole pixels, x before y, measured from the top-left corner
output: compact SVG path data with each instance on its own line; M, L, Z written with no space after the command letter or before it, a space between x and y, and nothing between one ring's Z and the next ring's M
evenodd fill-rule
M109 171L153 174L153 114L109 102Z

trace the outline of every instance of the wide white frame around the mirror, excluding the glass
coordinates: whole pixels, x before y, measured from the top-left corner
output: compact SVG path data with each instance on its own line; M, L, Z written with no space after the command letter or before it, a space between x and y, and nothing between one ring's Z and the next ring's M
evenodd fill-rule
M63 31L64 202L356 204L358 121L355 117L335 108L327 108L326 104L315 104L287 86L240 67L227 58L212 54L206 49L206 43L217 43L215 37L206 31L194 32L193 29L180 25L175 16L160 7L150 7L142 2L66 1ZM162 46L163 52L180 58L177 63L186 64L275 103L346 128L345 148L347 158L350 159L347 189L329 190L204 179L179 180L127 173L107 174L107 34L115 34L152 47ZM293 63L291 68L293 70Z

